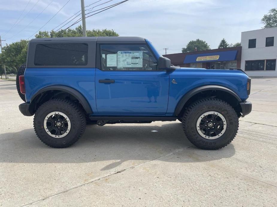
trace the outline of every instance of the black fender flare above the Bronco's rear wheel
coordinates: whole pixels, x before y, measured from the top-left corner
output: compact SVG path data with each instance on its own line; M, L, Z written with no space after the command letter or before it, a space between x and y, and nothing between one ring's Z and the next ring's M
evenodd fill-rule
M62 85L47 86L43 89L40 89L33 95L30 103L32 103L32 101L37 97L37 95L40 95L43 92L51 91L51 90L64 91L64 92L69 93L70 95L74 96L79 101L79 103L83 106L83 108L87 112L87 114L93 113L92 109L90 108L90 104L88 103L86 98L80 92L78 92L77 90L70 88L68 86L62 86Z

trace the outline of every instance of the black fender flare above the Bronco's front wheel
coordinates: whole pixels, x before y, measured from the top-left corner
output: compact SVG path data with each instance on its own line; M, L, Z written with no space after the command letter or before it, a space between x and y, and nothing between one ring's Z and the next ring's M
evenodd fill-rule
M184 105L187 103L187 101L196 95L197 93L208 91L208 90L219 90L229 93L230 95L234 96L238 102L241 102L240 97L231 89L228 89L223 86L217 86L217 85L208 85L208 86L200 86L198 88L192 89L189 92L187 92L178 102L177 106L175 107L174 115L179 115L181 110L183 109Z

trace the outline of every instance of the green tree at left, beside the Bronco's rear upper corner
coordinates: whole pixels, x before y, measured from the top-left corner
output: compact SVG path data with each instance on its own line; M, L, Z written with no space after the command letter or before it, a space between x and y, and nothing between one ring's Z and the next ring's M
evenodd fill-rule
M3 47L0 55L1 64L5 64L8 68L18 68L21 64L26 62L28 40L20 40L7 44Z

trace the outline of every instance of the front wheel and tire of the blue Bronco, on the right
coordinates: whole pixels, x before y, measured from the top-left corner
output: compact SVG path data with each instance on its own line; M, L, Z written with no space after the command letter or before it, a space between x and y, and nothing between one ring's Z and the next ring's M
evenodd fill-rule
M232 106L217 98L197 100L184 112L182 125L188 140L201 149L220 149L235 138L239 126Z

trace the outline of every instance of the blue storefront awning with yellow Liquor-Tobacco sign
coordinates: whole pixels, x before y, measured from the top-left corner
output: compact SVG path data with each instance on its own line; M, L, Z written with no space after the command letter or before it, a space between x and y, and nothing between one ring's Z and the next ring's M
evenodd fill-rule
M236 55L237 55L237 50L186 55L184 59L184 63L207 63L207 62L232 61L236 59Z

